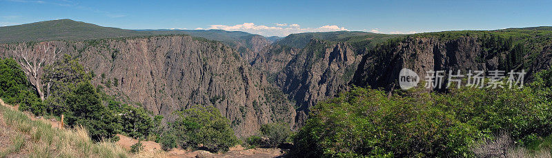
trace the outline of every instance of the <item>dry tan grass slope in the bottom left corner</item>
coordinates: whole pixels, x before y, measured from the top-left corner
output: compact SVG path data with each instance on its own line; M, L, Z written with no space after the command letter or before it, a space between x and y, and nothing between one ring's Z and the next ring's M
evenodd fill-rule
M43 120L31 120L28 115L0 106L3 124L17 131L10 136L10 148L0 151L0 157L18 154L24 157L128 157L128 152L112 142L95 143L86 128L72 130L53 128ZM28 140L24 136L28 137Z

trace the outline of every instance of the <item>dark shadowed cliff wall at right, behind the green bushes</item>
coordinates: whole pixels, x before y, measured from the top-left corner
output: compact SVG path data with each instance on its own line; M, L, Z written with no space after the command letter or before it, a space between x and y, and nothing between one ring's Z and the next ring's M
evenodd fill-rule
M550 43L549 43L550 45ZM520 45L521 46L521 45ZM459 37L440 40L435 37L411 37L401 41L388 42L368 52L359 63L355 77L351 81L356 86L371 86L393 90L399 88L398 77L402 68L413 70L425 81L426 72L433 70L515 70L524 69L531 73L550 68L549 46L544 48L533 62L529 50L520 55L517 63L506 64L506 56L512 55L515 48L493 49L486 51L482 39L478 37ZM536 49L535 49L536 50ZM536 50L540 52L540 50ZM548 52L548 53L547 53ZM529 63L529 64L527 64ZM531 66L533 63L533 66ZM506 67L506 65L511 65ZM444 83L448 78L445 74ZM446 85L442 85L443 87Z

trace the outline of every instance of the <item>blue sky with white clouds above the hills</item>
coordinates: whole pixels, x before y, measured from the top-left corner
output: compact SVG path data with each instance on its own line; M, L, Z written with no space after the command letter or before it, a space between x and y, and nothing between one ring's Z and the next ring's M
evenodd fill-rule
M73 19L126 29L223 29L265 36L552 26L552 1L0 0L0 26Z

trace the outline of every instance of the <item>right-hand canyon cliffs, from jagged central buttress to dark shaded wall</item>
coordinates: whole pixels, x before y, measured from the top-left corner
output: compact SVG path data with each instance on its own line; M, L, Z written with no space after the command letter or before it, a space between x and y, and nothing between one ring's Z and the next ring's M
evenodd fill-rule
M527 83L534 72L551 66L550 38L514 39L477 33L398 37L374 48L318 39L311 39L301 49L274 44L259 52L253 66L268 73L269 81L295 101L297 126L304 124L308 108L351 86L400 88L397 79L402 68L414 70L422 81L429 70L524 70L528 72ZM448 76L444 76L442 87Z

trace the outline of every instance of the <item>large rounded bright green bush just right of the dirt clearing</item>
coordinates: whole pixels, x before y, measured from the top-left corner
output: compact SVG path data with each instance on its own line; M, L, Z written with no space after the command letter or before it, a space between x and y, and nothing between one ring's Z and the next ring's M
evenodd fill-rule
M355 88L319 103L294 139L292 155L306 157L461 156L475 128L432 106L428 95L388 98Z

